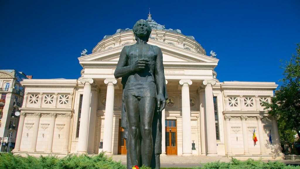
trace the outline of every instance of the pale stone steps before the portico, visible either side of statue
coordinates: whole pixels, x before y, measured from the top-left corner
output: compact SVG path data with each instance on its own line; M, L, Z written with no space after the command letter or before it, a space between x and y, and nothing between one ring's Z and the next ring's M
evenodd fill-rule
M113 155L114 161L121 161L122 164L126 163L126 155ZM199 164L207 162L230 162L230 158L224 156L207 157L207 156L161 156L161 164Z

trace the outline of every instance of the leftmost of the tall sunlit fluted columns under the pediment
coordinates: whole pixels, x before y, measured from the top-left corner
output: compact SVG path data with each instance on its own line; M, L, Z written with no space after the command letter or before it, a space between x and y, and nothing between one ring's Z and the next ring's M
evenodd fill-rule
M82 107L80 115L80 127L79 127L79 138L77 145L77 152L86 153L88 143L88 124L89 124L89 110L91 103L91 84L94 82L93 79L81 79L80 81L84 84Z

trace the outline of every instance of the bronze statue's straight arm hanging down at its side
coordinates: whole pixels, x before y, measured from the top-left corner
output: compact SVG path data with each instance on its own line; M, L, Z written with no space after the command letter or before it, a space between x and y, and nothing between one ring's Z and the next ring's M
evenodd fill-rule
M161 112L166 107L166 99L164 97L164 65L163 65L163 54L161 48L156 47L157 57L155 63L155 83L157 89L157 107L158 111Z

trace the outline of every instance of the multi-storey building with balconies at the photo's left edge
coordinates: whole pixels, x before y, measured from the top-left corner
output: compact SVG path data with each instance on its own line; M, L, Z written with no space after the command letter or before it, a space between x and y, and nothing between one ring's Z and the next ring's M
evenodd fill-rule
M23 102L23 88L20 82L26 75L16 70L0 70L0 151L7 152L14 147L18 114ZM10 150L8 150L10 151Z

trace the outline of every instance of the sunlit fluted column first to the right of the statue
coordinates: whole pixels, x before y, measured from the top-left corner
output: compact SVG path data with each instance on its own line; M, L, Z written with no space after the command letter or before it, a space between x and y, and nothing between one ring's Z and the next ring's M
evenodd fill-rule
M182 85L182 155L192 155L192 139L190 127L190 89L189 86L193 82L191 80L180 80Z

